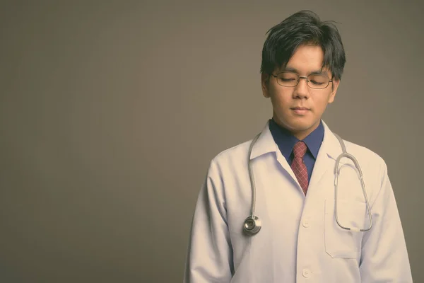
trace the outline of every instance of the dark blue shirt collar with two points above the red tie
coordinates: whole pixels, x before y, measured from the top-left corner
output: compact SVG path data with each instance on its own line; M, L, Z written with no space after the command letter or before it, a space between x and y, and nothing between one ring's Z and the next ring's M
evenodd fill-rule
M293 151L293 146L299 141L298 138L293 136L287 129L280 127L273 119L269 120L269 130L272 137L276 142L278 149L285 158L289 158ZM317 159L319 148L321 147L322 140L324 139L324 126L322 121L319 122L317 129L314 129L303 141L310 150L312 156Z

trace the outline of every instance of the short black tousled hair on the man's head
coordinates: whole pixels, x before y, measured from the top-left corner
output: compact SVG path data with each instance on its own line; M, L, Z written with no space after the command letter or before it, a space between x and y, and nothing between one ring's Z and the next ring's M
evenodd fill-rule
M299 11L274 25L266 34L262 49L261 73L271 74L278 67L285 67L301 45L317 45L324 52L322 69L331 71L340 80L346 63L346 55L333 21L321 21L312 11Z

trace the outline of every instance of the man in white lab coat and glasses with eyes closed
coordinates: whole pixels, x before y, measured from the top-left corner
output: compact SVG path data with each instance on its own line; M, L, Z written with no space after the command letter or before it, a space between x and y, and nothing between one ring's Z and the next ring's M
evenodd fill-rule
M247 141L211 161L184 282L412 282L386 164L348 141L354 158L338 162L343 145L321 120L345 62L338 30L315 13L269 30L261 87L272 119L250 154ZM247 233L252 211L257 233Z

